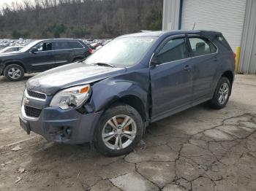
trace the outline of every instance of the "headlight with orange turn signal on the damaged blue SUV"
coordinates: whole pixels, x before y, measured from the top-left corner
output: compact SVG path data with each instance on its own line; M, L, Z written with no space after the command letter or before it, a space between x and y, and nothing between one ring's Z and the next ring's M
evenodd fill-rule
M59 106L61 109L76 108L89 98L90 85L80 85L61 90L53 96L50 106Z

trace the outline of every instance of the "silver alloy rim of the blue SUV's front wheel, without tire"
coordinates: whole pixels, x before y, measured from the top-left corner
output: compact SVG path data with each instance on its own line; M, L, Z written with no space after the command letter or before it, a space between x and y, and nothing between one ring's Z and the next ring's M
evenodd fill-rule
M132 144L137 126L132 117L120 114L108 120L102 129L102 140L110 149L124 149Z

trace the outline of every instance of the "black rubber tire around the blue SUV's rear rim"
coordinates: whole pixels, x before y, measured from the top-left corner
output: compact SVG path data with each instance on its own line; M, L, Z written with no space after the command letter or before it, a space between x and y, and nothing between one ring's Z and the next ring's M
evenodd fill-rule
M225 98L225 101L219 101L219 91L223 87L223 85L227 85L228 90L227 90L227 98ZM222 109L226 106L228 99L230 98L230 93L231 93L231 85L230 85L230 80L227 79L227 77L221 77L219 79L219 82L217 83L217 87L214 90L214 96L213 98L209 101L209 104L211 108L213 109ZM222 95L223 96L223 95ZM224 96L225 97L225 96Z

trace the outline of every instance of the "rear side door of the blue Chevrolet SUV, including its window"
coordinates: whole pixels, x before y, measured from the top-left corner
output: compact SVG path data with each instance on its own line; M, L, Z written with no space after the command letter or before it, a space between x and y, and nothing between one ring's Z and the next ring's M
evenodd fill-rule
M214 74L217 71L219 58L217 47L206 37L189 35L189 62L193 67L192 103L211 98Z

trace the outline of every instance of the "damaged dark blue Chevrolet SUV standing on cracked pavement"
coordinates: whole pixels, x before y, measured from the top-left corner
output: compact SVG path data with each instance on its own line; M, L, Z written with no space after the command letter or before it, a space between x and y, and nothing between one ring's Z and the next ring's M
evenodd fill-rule
M48 141L92 142L104 155L124 155L151 122L205 101L222 109L234 69L219 32L120 36L85 61L29 79L20 124Z

